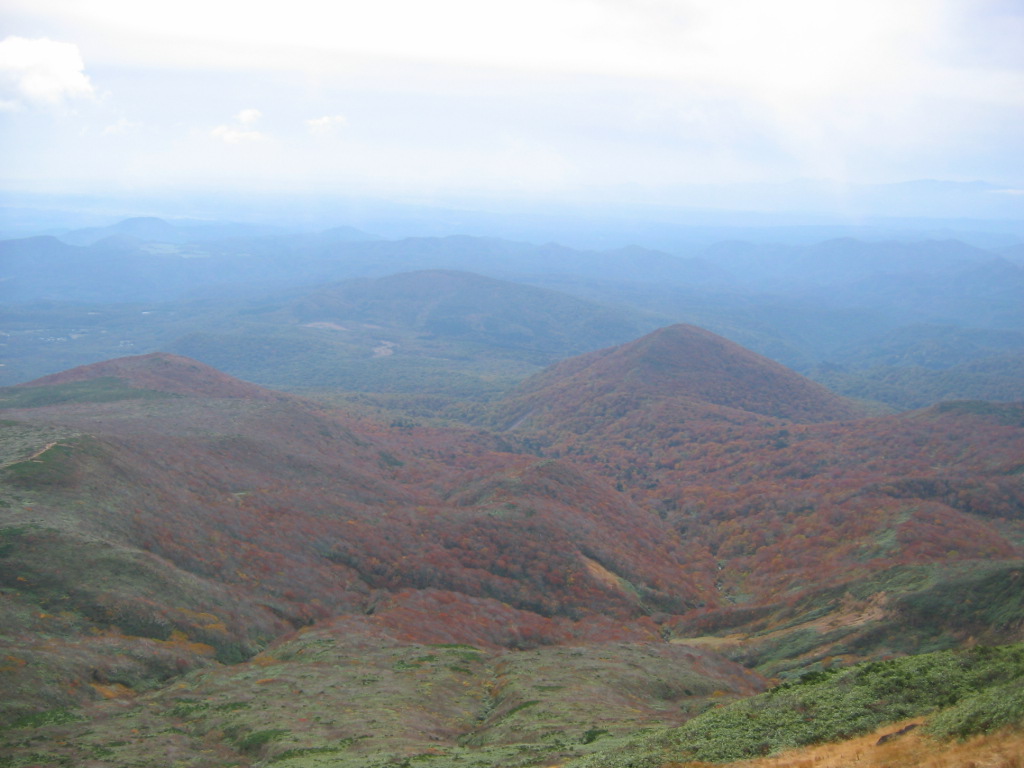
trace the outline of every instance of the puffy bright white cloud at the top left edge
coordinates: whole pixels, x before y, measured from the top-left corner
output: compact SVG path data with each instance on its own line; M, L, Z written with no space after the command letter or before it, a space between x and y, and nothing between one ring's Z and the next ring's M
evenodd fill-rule
M94 95L78 46L47 38L11 36L0 42L0 88L4 110L57 106Z

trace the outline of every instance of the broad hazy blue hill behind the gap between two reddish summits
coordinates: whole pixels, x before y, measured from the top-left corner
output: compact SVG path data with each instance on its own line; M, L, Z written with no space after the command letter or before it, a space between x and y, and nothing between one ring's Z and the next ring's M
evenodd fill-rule
M443 393L445 378L454 388L464 378L486 392L488 379L521 378L658 325L640 312L445 270L326 285L232 321L164 348L278 386Z

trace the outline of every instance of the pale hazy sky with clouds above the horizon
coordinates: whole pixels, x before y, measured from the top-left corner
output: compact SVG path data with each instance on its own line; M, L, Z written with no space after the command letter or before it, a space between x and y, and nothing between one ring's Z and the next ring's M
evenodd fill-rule
M1024 188L1024 0L4 0L7 189Z

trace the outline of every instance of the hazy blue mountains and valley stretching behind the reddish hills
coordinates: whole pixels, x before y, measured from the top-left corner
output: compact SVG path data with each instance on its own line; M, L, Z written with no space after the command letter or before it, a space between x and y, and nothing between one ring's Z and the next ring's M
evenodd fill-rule
M154 218L63 238L88 245L0 242L0 382L163 349L279 387L489 397L559 358L686 323L895 408L1024 397L1012 247L846 238L683 257Z

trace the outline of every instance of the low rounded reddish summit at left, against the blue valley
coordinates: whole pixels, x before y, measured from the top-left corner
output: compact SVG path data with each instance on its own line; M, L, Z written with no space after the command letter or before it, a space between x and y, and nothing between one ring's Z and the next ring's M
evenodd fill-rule
M138 389L196 397L279 399L284 396L222 374L190 357L164 352L117 357L80 366L19 386L46 387L102 378L121 379Z

